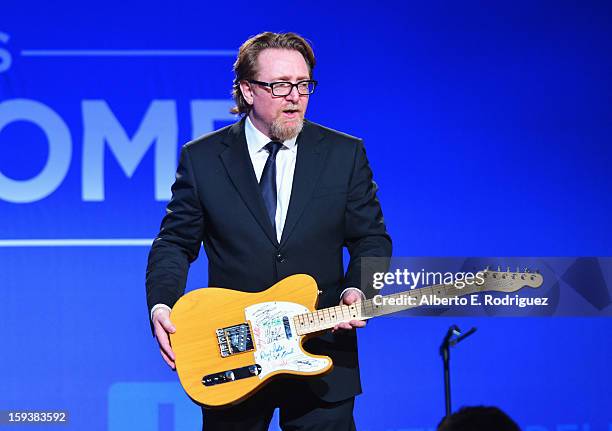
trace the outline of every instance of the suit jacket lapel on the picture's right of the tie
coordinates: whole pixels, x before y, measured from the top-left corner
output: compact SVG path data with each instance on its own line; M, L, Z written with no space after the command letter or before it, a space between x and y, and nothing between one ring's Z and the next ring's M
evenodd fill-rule
M304 128L297 140L297 160L293 174L293 185L291 186L289 210L287 211L280 242L281 246L287 242L293 232L321 174L326 153L325 146L321 145L322 138L323 136L317 128L304 120Z

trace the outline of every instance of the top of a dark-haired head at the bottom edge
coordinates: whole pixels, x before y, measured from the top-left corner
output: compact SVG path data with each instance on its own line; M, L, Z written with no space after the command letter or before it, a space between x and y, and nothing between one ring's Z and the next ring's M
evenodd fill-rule
M445 417L437 431L521 431L510 417L497 407L463 407Z

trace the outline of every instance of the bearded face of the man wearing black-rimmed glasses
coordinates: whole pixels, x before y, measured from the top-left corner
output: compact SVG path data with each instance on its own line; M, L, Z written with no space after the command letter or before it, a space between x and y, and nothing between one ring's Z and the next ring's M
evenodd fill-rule
M263 82L310 79L308 65L298 51L265 49L257 58L255 80ZM241 83L245 100L252 105L249 117L253 125L270 139L285 141L302 130L308 96L298 94L293 87L287 96L274 96L272 89L258 84Z

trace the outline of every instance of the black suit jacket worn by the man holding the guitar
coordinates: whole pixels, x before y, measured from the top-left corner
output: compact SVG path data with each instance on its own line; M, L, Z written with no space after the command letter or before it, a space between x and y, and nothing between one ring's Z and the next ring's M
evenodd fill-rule
M377 186L360 139L305 121L298 136L291 199L280 243L270 223L253 165L243 118L186 144L172 199L147 267L149 309L172 307L184 293L189 264L203 243L208 285L258 292L297 273L315 278L319 307L337 305L346 287L361 284L362 257L391 255ZM351 256L344 274L342 250ZM329 355L331 373L310 380L326 401L361 392L355 331L326 333L306 343Z

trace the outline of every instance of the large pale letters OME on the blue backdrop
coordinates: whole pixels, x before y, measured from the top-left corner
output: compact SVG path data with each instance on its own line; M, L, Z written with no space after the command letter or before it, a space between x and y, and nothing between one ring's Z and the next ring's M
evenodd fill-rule
M126 102L129 103L129 102ZM104 158L108 149L130 178L143 157L154 147L154 199L170 199L177 164L178 120L175 100L153 100L131 138L104 100L83 100L82 200L101 202L105 198ZM191 131L196 138L214 129L215 121L232 121L232 100L192 100ZM66 122L49 106L27 99L0 103L0 133L7 125L26 121L38 126L47 138L49 157L33 178L15 180L0 172L0 199L12 203L35 202L52 194L66 178L73 145ZM27 147L24 148L27 151Z

